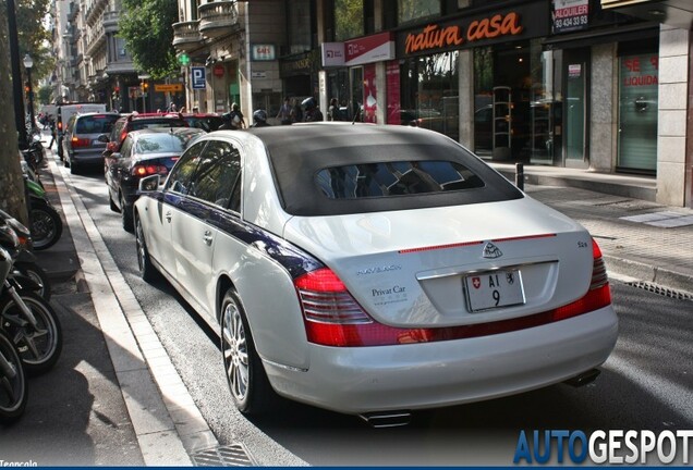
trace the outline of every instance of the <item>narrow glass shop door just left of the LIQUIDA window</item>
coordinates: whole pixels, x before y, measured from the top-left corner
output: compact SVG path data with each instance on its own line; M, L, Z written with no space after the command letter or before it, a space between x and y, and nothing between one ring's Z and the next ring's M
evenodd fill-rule
M589 165L586 125L588 58L588 51L567 51L566 54L564 165L570 168L587 168Z

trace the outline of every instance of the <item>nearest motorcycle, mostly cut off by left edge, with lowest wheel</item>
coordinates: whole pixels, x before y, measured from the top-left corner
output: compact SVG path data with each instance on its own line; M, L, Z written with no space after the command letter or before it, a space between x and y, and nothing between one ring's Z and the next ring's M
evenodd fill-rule
M0 248L0 280L12 269L12 258ZM0 422L16 421L26 408L28 384L24 367L16 348L8 335L0 330Z

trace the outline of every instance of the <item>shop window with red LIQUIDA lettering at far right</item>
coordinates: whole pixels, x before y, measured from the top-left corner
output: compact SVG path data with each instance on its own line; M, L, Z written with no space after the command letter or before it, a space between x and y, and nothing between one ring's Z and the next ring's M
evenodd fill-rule
M658 66L656 53L619 58L619 170L657 169Z

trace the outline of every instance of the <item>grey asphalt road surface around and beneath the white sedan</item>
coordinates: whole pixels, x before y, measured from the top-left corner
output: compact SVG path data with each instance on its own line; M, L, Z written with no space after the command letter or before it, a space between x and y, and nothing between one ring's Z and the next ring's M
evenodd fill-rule
M691 301L618 281L612 281L612 294L621 321L619 342L601 375L585 387L561 384L420 412L410 426L388 430L289 401L271 417L247 420L227 391L216 332L168 283L149 285L138 277L134 236L110 211L101 174L73 176L72 183L219 442L244 444L259 465L508 466L522 430L693 428Z

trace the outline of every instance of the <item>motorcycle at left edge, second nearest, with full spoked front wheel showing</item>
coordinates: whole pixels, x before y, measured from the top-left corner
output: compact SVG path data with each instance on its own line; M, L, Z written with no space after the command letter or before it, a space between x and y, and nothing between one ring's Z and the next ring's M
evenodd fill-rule
M0 329L16 346L24 370L39 374L52 368L62 351L60 321L50 304L36 294L39 286L13 270L20 240L3 221L0 239L10 255L10 269L0 286Z

